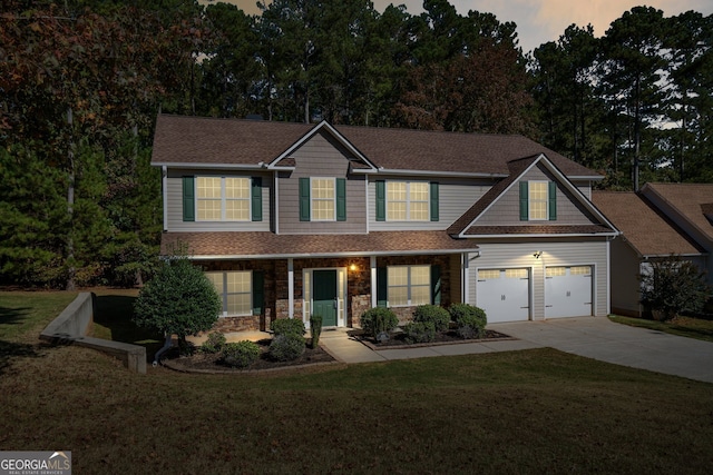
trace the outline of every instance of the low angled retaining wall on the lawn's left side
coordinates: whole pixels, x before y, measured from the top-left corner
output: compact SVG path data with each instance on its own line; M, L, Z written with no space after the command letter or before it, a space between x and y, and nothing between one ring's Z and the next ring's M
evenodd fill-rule
M114 356L128 369L146 374L146 348L121 342L94 338L87 330L94 321L96 295L79 293L52 321L40 333L40 339L53 345L77 345Z

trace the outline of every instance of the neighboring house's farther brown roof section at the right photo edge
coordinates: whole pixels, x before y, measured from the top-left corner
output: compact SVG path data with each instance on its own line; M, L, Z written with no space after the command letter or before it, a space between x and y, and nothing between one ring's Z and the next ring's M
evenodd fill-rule
M713 225L706 217L713 204L713 184L646 184L642 194L658 196L685 218L709 240L713 240Z

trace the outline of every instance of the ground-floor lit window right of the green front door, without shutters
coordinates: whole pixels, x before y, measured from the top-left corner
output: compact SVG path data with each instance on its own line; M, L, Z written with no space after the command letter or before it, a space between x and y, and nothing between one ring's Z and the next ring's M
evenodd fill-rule
M390 306L431 303L431 266L390 266L387 276Z

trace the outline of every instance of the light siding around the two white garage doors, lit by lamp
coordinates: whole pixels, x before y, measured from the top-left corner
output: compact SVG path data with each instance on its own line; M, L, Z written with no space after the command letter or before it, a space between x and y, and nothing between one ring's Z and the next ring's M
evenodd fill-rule
M478 305L477 269L492 268L528 268L530 269L530 316L533 319L545 317L545 267L548 266L593 266L594 288L592 311L595 316L606 316L609 313L608 301L608 256L607 243L597 241L548 241L497 244L478 243L480 257L471 255L468 268L468 303ZM533 254L541 250L543 255L536 259Z

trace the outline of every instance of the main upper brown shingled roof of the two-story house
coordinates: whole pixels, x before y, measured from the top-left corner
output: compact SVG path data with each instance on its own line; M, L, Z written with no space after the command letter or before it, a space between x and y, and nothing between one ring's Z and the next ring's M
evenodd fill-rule
M522 136L460 133L374 127L158 116L154 137L154 165L285 166L295 145L325 130L355 152L354 168L368 162L380 171L428 171L506 177L508 164L546 155L572 178L598 180L602 176ZM359 164L359 165L356 165ZM369 168L369 167L367 167Z

